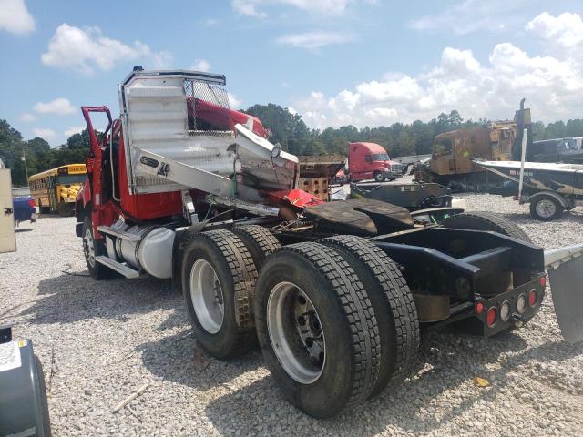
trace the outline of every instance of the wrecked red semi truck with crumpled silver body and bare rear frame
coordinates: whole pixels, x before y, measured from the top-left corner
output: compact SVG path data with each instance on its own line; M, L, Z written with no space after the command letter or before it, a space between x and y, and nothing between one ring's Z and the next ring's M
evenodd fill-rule
M428 226L373 199L324 202L297 188L298 158L229 109L224 85L136 68L118 88L119 118L82 108L91 149L77 236L93 278L173 279L199 347L226 359L259 341L285 397L316 417L406 378L422 329L490 337L537 314L544 253L516 225L472 213ZM109 120L100 137L95 112ZM556 253L553 269L566 259ZM557 276L553 293L570 302L579 279Z

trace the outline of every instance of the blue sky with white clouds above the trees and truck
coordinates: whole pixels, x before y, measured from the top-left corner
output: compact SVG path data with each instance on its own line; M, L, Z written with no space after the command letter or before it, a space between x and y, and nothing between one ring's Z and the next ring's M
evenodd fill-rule
M0 118L52 146L81 105L118 113L132 66L227 76L231 103L310 127L390 125L458 109L583 117L580 1L0 0Z

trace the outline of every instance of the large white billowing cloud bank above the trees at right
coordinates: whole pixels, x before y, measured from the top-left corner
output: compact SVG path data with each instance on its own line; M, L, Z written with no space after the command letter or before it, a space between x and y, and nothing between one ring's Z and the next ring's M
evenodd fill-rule
M578 42L578 19L578 15L539 15L529 22L527 30L545 43L553 38L555 27L570 24L572 34L562 33L564 41L557 38L565 50L554 51L552 56L531 55L511 43L500 43L482 64L471 50L445 47L439 63L424 73L389 73L332 96L314 91L292 104L310 127L318 128L427 121L452 109L475 120L512 118L522 97L527 98L535 120L578 117L583 112L583 42Z

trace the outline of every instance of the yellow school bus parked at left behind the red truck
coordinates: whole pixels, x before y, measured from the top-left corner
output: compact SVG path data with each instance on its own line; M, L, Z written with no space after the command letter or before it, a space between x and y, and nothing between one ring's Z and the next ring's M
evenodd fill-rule
M37 173L28 178L30 195L41 212L57 212L70 216L75 198L87 179L85 164L67 164Z

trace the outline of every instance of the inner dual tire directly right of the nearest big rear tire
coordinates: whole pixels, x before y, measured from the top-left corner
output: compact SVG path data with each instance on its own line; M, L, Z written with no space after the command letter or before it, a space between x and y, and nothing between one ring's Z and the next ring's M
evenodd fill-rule
M419 350L419 320L413 294L393 259L361 237L319 241L337 249L354 269L373 305L381 340L379 377L371 393L396 385L411 374Z

